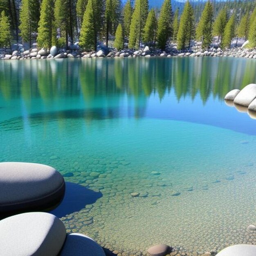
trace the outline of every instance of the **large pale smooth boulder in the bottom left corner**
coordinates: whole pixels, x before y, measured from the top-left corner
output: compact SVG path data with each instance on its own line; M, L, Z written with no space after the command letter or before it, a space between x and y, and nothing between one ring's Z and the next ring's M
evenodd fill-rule
M22 213L0 221L0 255L56 256L60 252L66 229L50 213Z

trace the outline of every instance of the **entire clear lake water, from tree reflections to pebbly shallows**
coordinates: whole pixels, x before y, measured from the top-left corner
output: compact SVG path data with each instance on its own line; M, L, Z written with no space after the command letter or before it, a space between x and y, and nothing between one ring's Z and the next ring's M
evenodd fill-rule
M1 62L0 161L61 171L72 183L52 212L128 255L256 244L256 121L223 101L255 70L235 58Z

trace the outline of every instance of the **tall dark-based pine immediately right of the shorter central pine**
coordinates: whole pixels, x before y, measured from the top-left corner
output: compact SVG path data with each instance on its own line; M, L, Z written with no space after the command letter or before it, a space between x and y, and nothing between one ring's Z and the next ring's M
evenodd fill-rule
M159 48L165 49L168 38L172 36L172 7L170 0L164 0L157 24L157 41Z

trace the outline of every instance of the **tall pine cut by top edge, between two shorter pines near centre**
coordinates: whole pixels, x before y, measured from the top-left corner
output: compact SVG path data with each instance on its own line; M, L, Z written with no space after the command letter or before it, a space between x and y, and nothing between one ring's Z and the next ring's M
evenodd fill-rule
M138 48L148 15L148 0L136 0L129 33L129 47Z

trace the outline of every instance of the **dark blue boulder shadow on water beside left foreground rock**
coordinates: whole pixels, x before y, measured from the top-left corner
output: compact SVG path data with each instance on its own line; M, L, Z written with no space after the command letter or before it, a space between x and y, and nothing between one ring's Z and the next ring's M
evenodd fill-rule
M101 192L95 192L76 183L65 182L66 190L61 204L49 213L61 218L75 211L80 211L87 204L93 204L102 197Z

